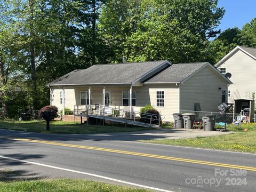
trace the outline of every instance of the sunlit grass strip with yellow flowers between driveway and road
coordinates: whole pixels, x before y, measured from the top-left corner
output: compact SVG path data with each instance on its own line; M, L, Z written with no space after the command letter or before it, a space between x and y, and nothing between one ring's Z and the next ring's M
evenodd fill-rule
M214 137L198 137L194 139L140 140L140 142L256 153L256 130Z

